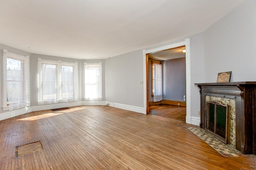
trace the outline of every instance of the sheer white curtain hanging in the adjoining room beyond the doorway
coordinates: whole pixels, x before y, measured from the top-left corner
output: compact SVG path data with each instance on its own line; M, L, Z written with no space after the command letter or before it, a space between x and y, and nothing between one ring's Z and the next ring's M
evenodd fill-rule
M163 100L162 94L162 64L155 64L153 66L153 80L154 80L154 102Z

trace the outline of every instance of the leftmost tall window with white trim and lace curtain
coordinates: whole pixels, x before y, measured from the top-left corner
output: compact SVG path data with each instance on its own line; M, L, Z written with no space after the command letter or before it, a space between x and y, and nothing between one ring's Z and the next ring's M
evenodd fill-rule
M30 106L29 57L3 49L3 109Z

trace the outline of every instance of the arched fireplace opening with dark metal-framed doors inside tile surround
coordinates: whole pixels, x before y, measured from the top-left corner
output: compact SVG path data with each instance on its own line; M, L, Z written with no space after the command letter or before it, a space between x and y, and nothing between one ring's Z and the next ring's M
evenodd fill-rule
M206 107L206 132L229 144L230 107L215 101L206 102Z

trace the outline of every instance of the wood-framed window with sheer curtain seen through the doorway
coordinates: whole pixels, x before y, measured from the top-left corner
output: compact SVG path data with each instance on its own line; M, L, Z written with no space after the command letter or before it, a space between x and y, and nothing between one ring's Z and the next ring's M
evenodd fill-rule
M151 61L151 96L154 102L162 100L162 64Z

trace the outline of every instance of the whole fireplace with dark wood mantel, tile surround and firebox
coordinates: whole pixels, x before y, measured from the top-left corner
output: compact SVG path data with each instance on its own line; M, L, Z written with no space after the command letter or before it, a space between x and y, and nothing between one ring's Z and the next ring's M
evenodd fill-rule
M200 88L200 127L242 154L256 154L256 82L195 85Z

